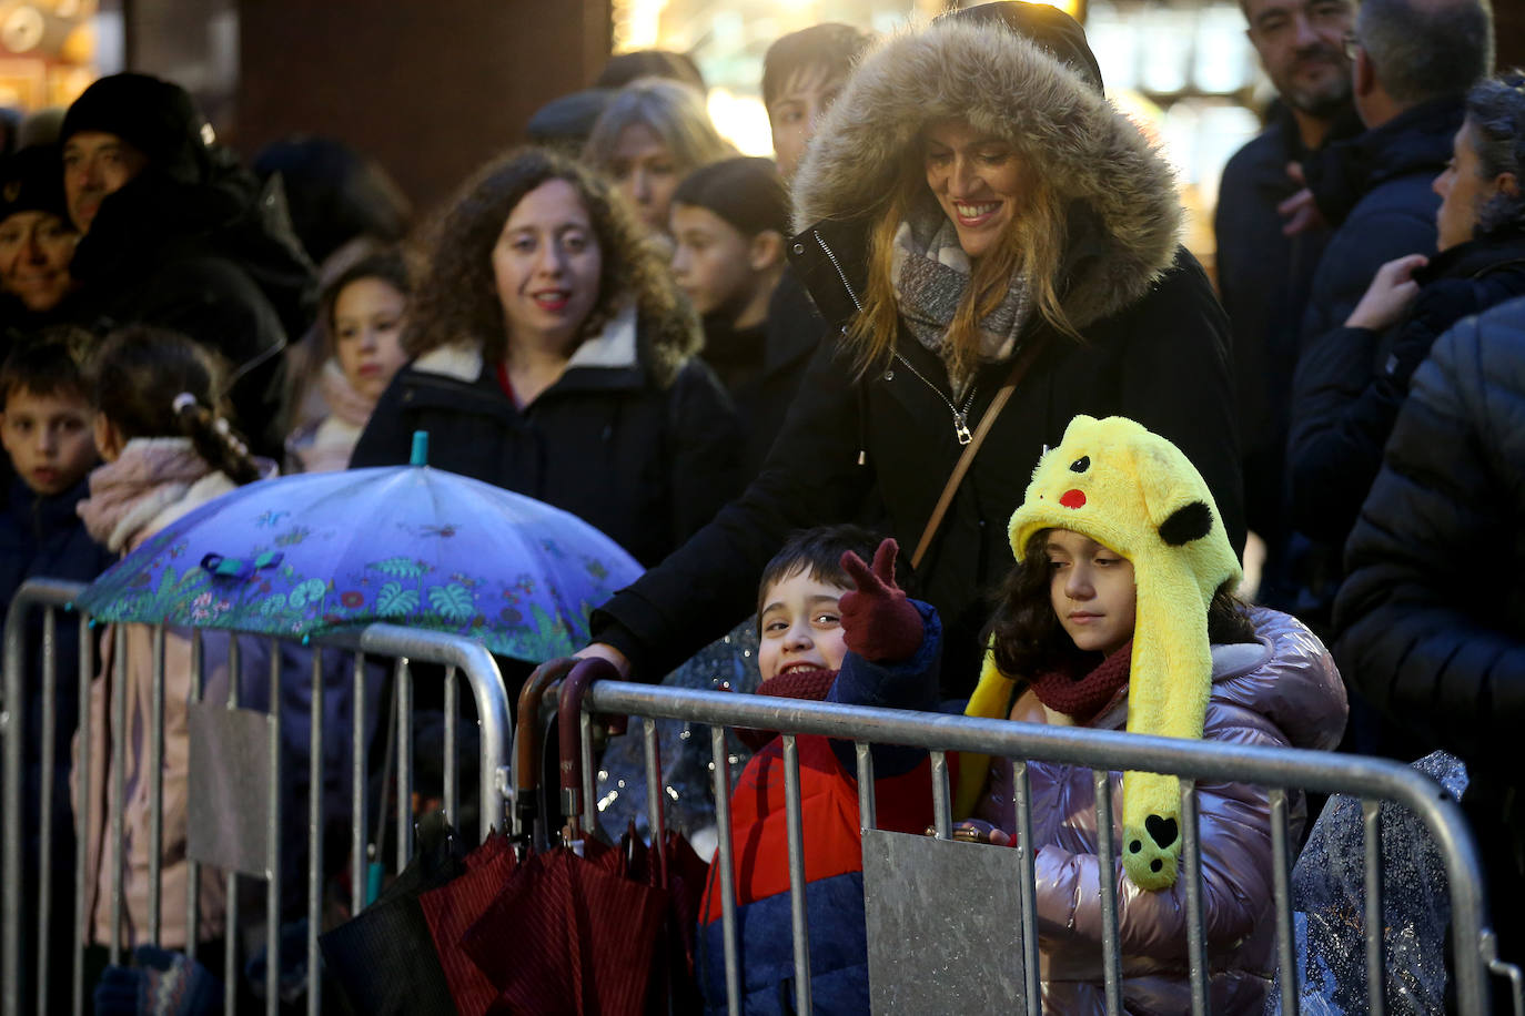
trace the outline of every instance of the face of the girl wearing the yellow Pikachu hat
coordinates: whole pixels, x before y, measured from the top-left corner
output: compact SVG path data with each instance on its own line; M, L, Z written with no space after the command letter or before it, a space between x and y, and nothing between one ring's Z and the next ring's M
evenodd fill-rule
M1049 602L1086 652L1113 653L1133 638L1133 562L1089 536L1055 529L1048 538Z

